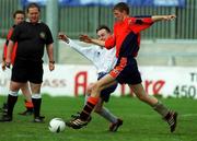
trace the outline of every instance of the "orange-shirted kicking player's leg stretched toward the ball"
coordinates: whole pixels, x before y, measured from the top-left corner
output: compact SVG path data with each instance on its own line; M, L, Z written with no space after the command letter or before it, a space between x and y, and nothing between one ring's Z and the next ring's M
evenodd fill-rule
M83 107L83 110L80 113L80 116L68 121L67 126L72 127L73 129L80 129L86 126L89 124L90 115L99 102L101 91L109 86L108 84L113 82L115 82L115 79L109 74L99 80L92 87L91 96L88 98L88 102Z

